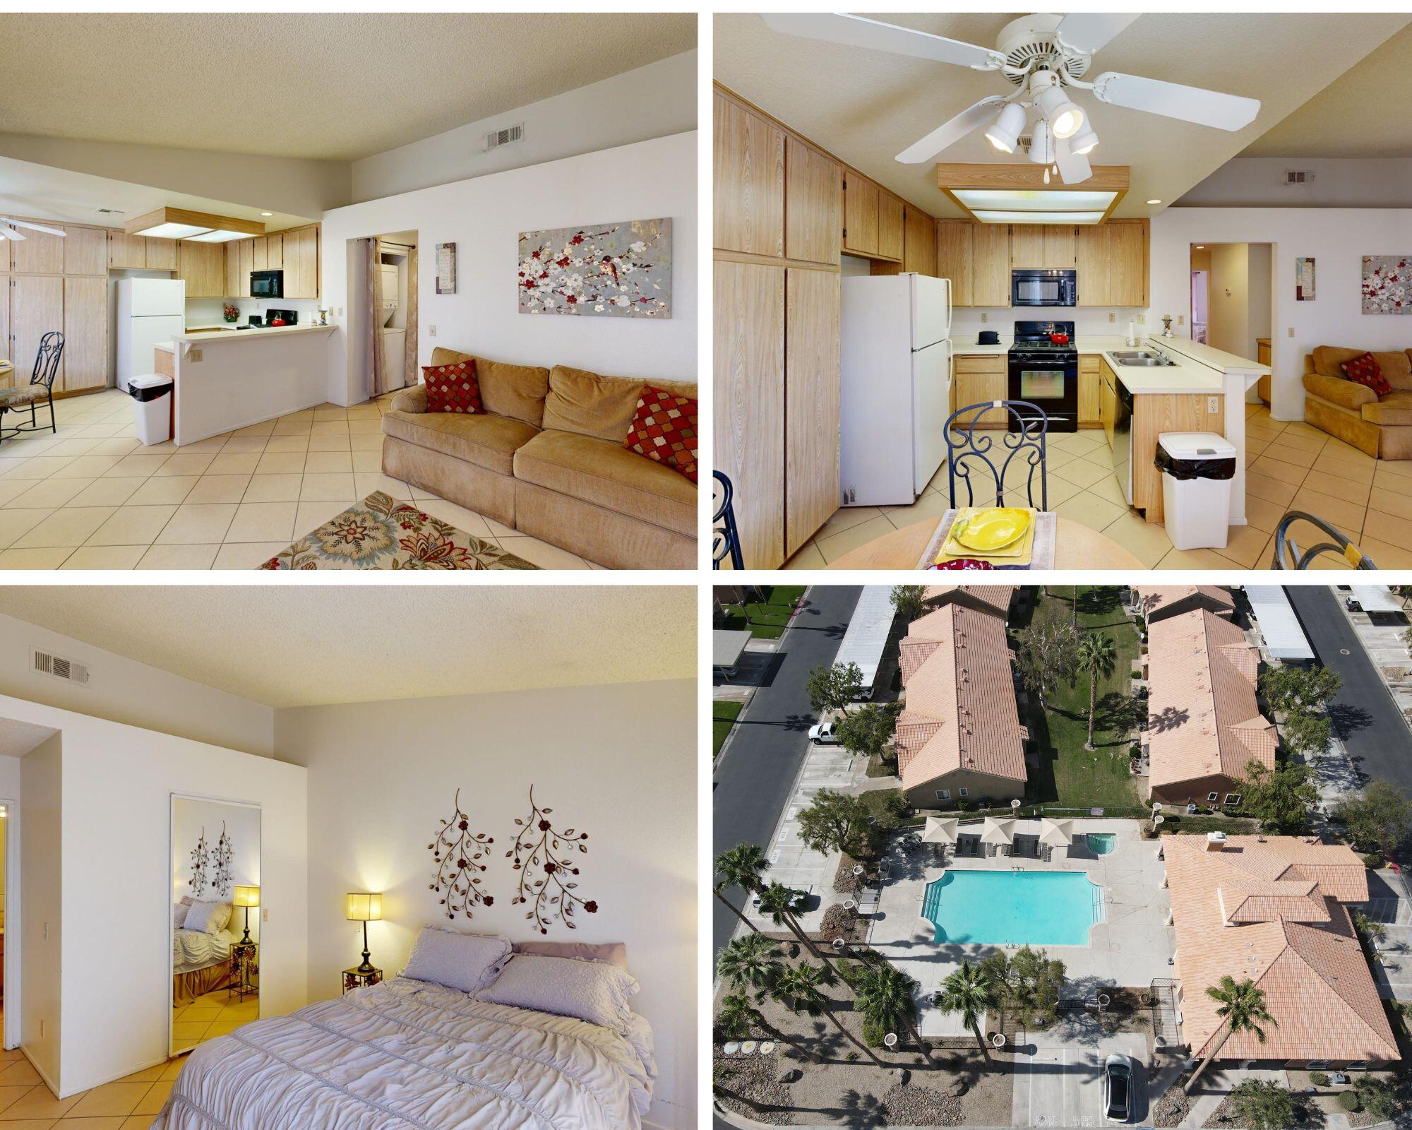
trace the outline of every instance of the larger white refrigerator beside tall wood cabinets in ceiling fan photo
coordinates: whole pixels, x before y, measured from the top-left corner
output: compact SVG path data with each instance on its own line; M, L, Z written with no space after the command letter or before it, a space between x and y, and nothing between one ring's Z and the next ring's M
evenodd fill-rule
M909 506L946 458L952 282L843 278L840 451L844 506Z

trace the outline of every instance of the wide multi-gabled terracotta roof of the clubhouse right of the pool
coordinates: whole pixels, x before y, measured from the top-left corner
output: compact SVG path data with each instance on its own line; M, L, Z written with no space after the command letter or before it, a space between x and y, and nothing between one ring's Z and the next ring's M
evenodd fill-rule
M1223 1059L1398 1058L1344 905L1368 898L1350 848L1293 836L1230 836L1221 852L1202 836L1168 836L1162 848L1193 1055L1220 1037L1206 989L1230 975L1255 982L1278 1027L1265 1025L1264 1044L1233 1035Z

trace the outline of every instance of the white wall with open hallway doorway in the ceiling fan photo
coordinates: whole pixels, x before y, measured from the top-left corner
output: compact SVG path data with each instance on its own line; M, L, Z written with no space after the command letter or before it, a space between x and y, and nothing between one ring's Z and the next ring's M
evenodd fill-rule
M1305 355L1319 345L1412 346L1412 316L1363 314L1363 256L1412 251L1412 209L1169 208L1152 220L1148 331L1190 312L1190 244L1271 243L1272 414L1302 420ZM1313 302L1295 301L1295 258L1316 260ZM1190 335L1183 321L1173 333Z

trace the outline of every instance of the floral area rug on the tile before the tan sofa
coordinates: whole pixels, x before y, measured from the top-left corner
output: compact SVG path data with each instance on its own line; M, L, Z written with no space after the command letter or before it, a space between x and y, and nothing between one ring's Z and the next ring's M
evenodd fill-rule
M493 541L383 492L329 518L261 569L537 569Z

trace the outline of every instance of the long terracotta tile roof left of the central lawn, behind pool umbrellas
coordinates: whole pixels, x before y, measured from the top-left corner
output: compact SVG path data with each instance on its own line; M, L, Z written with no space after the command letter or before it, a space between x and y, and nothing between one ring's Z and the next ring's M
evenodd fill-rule
M908 626L902 641L907 709L897 723L898 773L916 788L969 770L1025 780L1004 620L947 605Z

